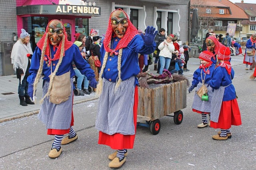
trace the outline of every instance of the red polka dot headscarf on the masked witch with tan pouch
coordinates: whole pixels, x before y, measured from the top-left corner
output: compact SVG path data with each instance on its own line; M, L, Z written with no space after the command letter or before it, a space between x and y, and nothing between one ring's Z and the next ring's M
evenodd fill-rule
M60 20L51 20L51 21L60 21ZM40 48L41 50L43 50L44 48L44 42L47 41L46 43L46 50L45 50L45 56L50 57L50 39L47 38L46 40L46 35L48 34L48 28L49 28L49 24L51 23L51 21L48 23L47 27L46 27L46 31L44 33L44 35L42 36L42 38L38 41L38 43L36 43L37 47ZM62 21L60 21L62 23ZM63 31L64 31L64 35L65 35L65 41L64 41L64 51L66 51L67 49L69 49L72 46L72 42L68 41L68 35L66 34L66 29L63 25ZM58 45L58 47L61 47L62 45L62 39L60 40L60 44ZM58 48L57 47L57 48ZM60 59L60 50L61 48L58 48L55 55L54 55L54 59L52 59L53 61ZM65 53L63 54L64 57Z

